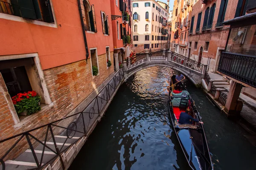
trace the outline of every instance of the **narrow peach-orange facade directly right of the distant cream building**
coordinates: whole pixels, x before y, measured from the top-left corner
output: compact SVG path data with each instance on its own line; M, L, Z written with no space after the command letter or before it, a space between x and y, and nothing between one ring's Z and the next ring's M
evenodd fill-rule
M188 56L189 14L192 11L192 0L175 0L172 11L171 50Z

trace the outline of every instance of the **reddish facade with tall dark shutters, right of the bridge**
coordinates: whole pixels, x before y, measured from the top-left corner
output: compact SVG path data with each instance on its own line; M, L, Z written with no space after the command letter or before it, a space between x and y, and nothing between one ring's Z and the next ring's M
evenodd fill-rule
M225 49L229 26L224 20L235 17L239 0L192 1L189 14L189 58L207 64L216 73L221 51Z

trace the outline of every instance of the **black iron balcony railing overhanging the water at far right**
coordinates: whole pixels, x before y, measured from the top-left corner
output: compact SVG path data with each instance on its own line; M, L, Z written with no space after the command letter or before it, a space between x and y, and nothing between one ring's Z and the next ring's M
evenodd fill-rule
M222 52L218 71L256 88L256 57Z

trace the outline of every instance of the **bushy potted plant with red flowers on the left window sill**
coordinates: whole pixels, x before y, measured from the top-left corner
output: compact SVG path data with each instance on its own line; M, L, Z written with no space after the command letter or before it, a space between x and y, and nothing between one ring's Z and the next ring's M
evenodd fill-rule
M41 96L35 91L28 91L19 93L12 97L12 102L16 112L19 115L31 115L41 110L40 107Z

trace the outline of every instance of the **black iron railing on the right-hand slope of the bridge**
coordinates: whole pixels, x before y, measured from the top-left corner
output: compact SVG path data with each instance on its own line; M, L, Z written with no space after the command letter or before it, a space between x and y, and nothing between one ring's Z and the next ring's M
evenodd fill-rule
M196 71L202 72L203 70L203 64L198 63L195 60L188 59L187 57L177 54L175 52L172 52L171 60L173 62L177 62L181 65L184 65L188 68L192 68L193 70L196 70Z

